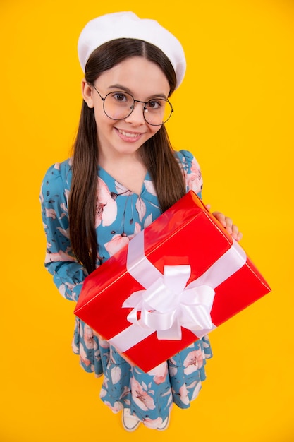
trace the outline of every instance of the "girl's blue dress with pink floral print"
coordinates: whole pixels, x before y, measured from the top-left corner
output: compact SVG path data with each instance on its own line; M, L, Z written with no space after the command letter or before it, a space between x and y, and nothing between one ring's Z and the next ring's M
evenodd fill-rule
M201 195L202 176L197 160L187 150L175 155L187 191L192 189ZM47 235L45 266L62 296L77 301L87 272L73 256L68 234L71 177L71 160L51 166L42 182L40 199ZM128 244L160 214L148 172L142 191L137 195L98 167L97 266ZM113 412L128 407L150 428L157 428L166 419L173 403L180 408L190 407L190 401L197 397L205 379L205 361L212 357L209 339L205 336L155 371L145 373L125 361L113 346L79 318L75 318L73 352L80 355L80 364L85 371L94 372L96 376L104 374L100 398Z

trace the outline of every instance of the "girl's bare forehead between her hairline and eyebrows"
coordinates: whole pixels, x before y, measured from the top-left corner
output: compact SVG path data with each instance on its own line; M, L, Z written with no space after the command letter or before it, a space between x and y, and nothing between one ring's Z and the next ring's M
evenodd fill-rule
M133 56L121 61L108 71L104 71L96 81L105 92L116 85L128 88L134 95L149 97L154 94L169 95L169 81L161 68L141 56Z

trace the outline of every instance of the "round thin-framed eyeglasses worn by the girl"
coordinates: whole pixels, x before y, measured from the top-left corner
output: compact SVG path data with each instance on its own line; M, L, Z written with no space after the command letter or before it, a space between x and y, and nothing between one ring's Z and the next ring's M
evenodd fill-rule
M143 117L151 126L161 126L166 123L173 113L173 106L164 98L152 98L149 101L135 100L128 92L109 92L104 98L92 85L103 101L103 110L112 120L123 120L130 116L135 109L135 102L144 104Z

